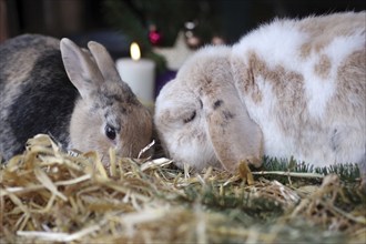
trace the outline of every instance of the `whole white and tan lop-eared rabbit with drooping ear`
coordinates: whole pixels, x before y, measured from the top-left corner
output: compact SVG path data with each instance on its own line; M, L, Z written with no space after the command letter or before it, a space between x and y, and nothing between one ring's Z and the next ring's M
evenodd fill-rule
M276 19L233 47L205 47L156 100L154 123L179 166L263 155L366 172L366 12Z

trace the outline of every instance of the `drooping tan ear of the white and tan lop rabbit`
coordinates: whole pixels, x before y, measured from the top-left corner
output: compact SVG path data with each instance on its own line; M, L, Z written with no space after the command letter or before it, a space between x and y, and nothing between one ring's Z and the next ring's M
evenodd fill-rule
M260 166L262 163L262 132L248 116L246 106L230 82L215 82L215 91L203 98L206 103L209 136L222 165L235 172L241 162Z

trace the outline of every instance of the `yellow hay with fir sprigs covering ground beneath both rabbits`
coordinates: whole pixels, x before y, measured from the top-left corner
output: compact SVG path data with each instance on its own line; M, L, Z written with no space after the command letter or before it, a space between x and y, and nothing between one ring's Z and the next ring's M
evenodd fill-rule
M335 174L276 172L284 183L254 172L247 184L246 167L194 174L163 157L110 156L104 167L95 152L67 154L47 135L31 139L0 171L1 243L366 241L365 195Z

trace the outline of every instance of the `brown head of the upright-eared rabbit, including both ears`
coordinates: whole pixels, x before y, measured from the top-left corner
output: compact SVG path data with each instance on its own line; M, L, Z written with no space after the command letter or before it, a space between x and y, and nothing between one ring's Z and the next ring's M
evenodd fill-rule
M96 150L104 162L110 148L120 156L138 156L152 136L151 114L121 80L105 48L91 41L88 53L69 39L62 39L60 48L68 77L80 93L69 148Z

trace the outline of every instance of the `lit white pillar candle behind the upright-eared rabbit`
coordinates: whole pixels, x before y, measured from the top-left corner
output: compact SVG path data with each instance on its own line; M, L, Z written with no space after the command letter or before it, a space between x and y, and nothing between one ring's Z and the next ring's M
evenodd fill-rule
M154 102L155 63L152 60L140 59L140 49L136 43L130 48L131 57L116 60L116 69L139 100L148 105Z

